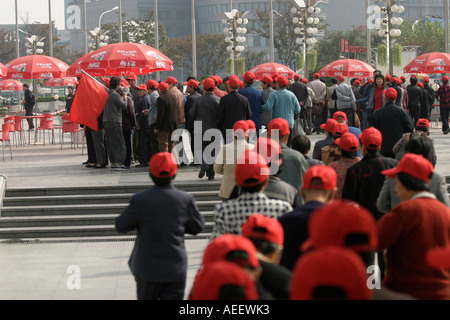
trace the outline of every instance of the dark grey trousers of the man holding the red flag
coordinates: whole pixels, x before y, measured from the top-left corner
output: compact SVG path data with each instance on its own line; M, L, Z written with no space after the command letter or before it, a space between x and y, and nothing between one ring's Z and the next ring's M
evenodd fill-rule
M119 122L104 121L106 144L111 165L122 166L125 162L127 149L123 138L122 124Z

